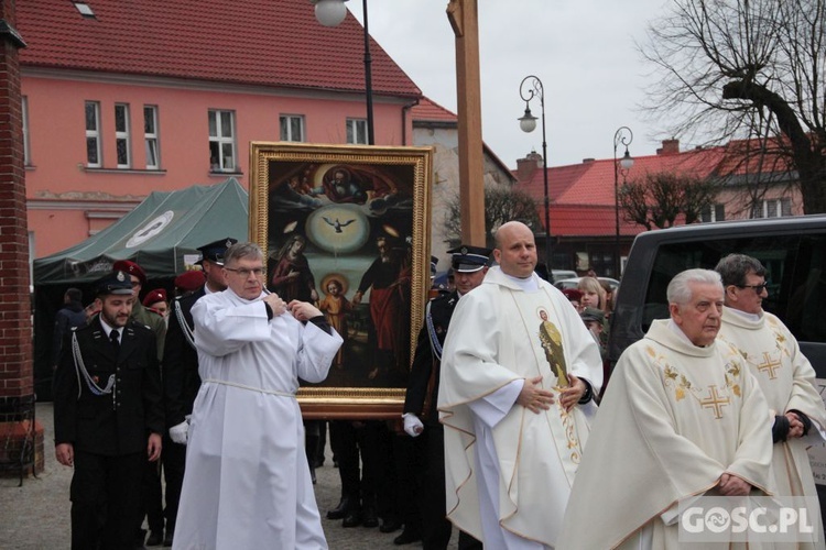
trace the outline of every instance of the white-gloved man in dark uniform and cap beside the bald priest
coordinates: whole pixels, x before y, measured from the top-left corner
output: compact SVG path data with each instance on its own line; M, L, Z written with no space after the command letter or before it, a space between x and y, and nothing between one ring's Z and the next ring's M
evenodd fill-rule
M456 289L444 293L427 304L424 323L419 333L413 366L404 398L404 431L419 439L419 450L424 454L420 483L422 517L422 546L425 550L447 548L450 522L445 518L445 446L444 431L438 421L438 396L442 345L450 324L450 317L463 295L479 286L488 271L490 249L461 245L447 251L453 254L452 267ZM405 526L405 531L406 531ZM398 543L409 540L399 538ZM465 532L459 534L459 548L481 548L481 543Z

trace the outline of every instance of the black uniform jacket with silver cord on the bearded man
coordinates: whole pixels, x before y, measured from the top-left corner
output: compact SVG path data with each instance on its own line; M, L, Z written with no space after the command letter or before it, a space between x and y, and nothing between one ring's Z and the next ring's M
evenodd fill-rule
M78 377L72 340L66 340L54 377L55 444L112 457L145 452L149 435L164 428L154 333L130 321L117 356L99 316L75 334L89 376L101 388L112 374L116 383L111 394L93 394L84 376Z

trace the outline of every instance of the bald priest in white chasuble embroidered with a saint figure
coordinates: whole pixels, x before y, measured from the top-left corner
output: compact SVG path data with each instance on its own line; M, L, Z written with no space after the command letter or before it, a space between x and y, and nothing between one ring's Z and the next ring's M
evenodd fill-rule
M442 355L447 517L486 548L554 548L602 384L599 349L534 273L526 226L504 223L493 258Z

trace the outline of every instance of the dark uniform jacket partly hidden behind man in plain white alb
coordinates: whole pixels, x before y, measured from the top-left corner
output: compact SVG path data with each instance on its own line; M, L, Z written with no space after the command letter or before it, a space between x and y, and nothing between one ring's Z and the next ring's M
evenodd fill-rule
M200 388L198 375L198 353L189 345L181 322L177 308L184 316L184 322L193 329L192 307L206 293L202 287L195 293L176 298L170 311L170 327L166 330L166 343L163 352L163 393L166 406L166 427L172 428L184 421L192 414L195 396Z

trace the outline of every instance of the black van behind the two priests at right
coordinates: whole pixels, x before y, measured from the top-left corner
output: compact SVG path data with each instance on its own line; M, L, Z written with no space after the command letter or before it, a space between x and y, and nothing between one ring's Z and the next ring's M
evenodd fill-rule
M722 221L648 231L634 240L611 316L611 365L654 319L669 317L665 288L677 273L713 270L732 252L765 266L763 309L780 317L818 378L826 378L826 216Z

